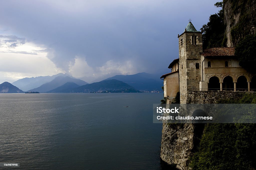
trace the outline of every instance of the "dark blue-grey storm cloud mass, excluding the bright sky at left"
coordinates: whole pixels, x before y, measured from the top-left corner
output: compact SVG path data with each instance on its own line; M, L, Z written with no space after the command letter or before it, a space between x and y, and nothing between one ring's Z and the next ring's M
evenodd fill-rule
M79 56L92 68L109 60L132 61L139 72L163 72L178 57L177 34L184 31L188 19L200 29L218 11L215 2L3 1L0 15L5 17L0 18L0 26L44 44L47 57L66 71Z

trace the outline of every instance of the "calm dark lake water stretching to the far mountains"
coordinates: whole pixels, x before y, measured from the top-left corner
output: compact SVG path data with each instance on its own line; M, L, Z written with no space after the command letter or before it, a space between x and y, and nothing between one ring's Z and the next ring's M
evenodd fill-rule
M0 94L0 162L20 163L15 169L162 169L162 124L153 124L152 110L161 99L163 93Z

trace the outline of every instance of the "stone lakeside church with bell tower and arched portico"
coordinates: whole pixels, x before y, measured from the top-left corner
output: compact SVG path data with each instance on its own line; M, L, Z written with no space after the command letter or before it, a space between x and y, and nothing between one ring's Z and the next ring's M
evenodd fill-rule
M233 47L215 47L203 51L202 33L191 22L182 34L178 34L178 39L179 58L169 65L172 72L161 77L164 78L167 103L172 102L178 91L180 103L186 103L189 90L256 90L256 76L239 65Z

